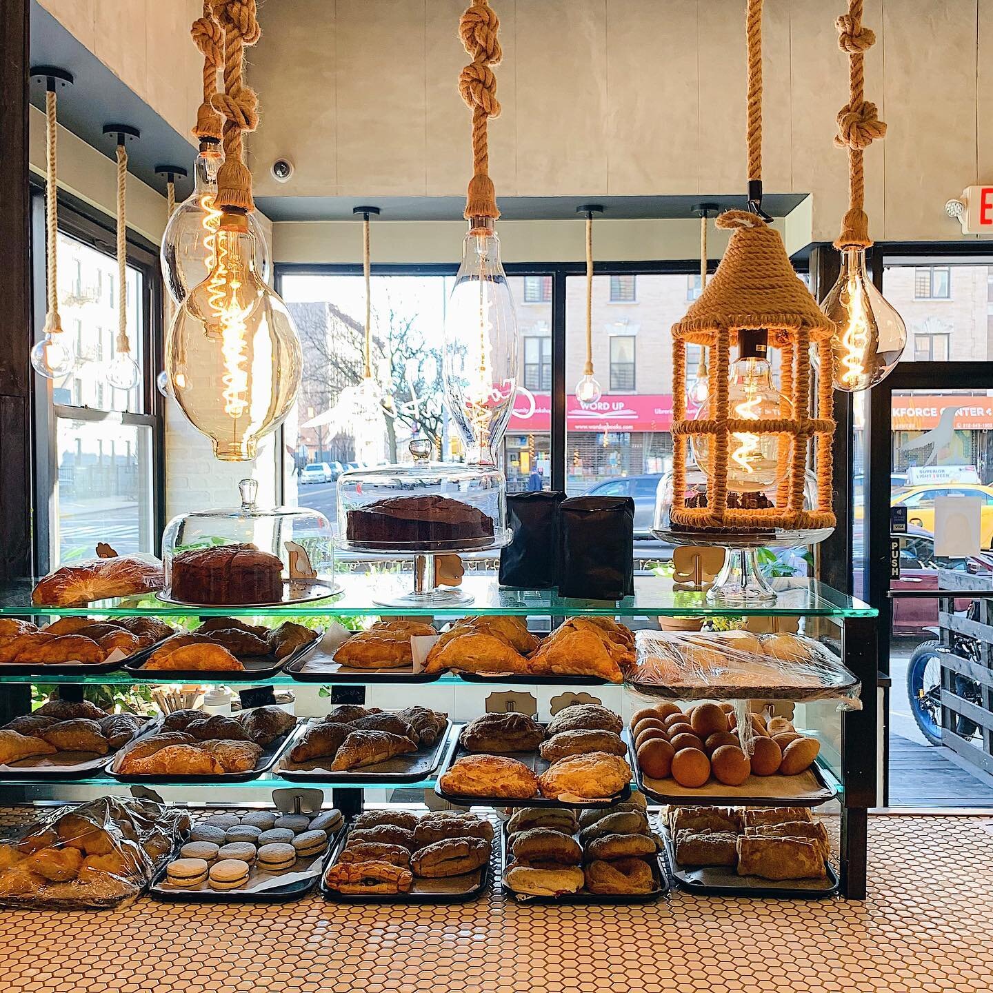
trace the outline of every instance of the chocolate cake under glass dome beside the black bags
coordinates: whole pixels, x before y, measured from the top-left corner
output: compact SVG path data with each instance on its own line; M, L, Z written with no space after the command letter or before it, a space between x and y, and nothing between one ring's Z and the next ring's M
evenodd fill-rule
M482 510L451 497L389 497L347 514L349 541L361 545L411 545L424 550L478 543L494 536Z

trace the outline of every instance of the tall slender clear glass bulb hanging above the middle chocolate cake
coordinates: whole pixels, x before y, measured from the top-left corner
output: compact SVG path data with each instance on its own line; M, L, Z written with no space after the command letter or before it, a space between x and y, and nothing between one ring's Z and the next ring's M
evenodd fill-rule
M469 461L497 465L517 388L517 316L493 220L473 218L445 317L445 393Z

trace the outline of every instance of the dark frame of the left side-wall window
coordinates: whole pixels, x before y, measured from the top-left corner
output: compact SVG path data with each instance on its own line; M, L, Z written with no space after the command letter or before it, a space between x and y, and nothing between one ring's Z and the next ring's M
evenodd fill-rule
M31 197L31 274L34 341L44 335L46 312L45 259L45 190L41 180L32 176ZM114 257L116 252L115 218L97 211L70 194L59 192L59 230L95 251ZM59 480L59 420L82 420L104 424L139 425L151 429L152 464L150 521L151 551L161 553L162 532L165 529L166 459L165 459L165 397L156 388L155 379L162 368L163 356L163 292L159 267L159 249L147 238L128 228L127 264L142 277L141 354L147 356L141 383L144 413L94 410L53 401L50 379L34 376L33 459L35 497L35 562L39 575L48 572L52 563L52 535L56 533L56 501L52 498Z

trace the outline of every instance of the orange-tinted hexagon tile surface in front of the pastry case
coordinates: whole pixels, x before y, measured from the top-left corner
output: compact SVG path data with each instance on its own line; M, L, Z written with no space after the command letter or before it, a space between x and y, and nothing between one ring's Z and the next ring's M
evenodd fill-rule
M0 912L16 993L989 993L993 833L870 818L869 899Z

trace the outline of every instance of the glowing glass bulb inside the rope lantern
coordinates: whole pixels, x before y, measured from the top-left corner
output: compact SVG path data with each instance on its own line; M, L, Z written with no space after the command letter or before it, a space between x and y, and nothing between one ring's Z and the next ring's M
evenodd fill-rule
M728 416L757 421L789 417L792 405L773 385L773 371L766 357L765 331L740 331L739 357L731 363L728 380ZM711 416L712 400L697 412L698 420ZM696 464L714 476L714 447L711 435L693 435ZM728 445L728 490L757 493L776 486L786 477L788 460L780 459L780 437L775 434L732 433Z

